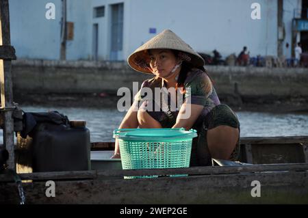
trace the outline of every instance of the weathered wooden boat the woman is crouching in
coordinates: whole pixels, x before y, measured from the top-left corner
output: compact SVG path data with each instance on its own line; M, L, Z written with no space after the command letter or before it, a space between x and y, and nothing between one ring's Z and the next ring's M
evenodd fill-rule
M18 176L27 180L22 183L27 204L308 203L308 136L241 141L238 163L214 160L209 167L135 170L119 169L119 160L108 159L114 144L97 142L92 143L92 170ZM107 157L98 158L100 152ZM172 174L186 176L162 176ZM123 178L146 175L160 176ZM55 197L46 195L49 180L55 182ZM0 174L0 203L19 202L13 176Z

